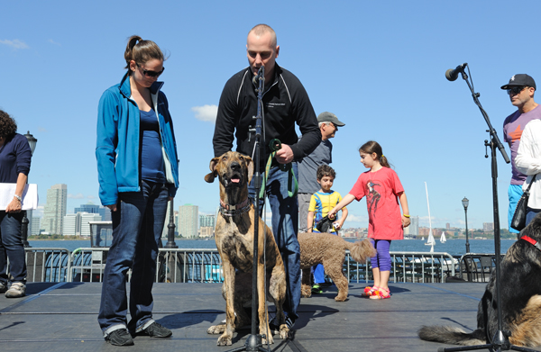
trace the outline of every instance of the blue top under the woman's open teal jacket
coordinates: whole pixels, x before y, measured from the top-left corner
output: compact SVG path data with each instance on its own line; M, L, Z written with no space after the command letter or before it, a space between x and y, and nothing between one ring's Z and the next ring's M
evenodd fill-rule
M160 123L156 113L141 113L141 178L146 181L165 184L165 172L163 170L163 154L161 153Z

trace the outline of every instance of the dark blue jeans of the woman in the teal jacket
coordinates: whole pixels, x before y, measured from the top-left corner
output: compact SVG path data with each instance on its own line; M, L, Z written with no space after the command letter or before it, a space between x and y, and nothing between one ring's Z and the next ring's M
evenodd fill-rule
M168 188L142 181L141 192L119 193L112 212L113 241L105 265L101 305L97 321L104 334L115 329L144 329L152 320L152 284L156 275L158 242L165 221ZM128 300L126 274L132 268L130 315L126 324Z

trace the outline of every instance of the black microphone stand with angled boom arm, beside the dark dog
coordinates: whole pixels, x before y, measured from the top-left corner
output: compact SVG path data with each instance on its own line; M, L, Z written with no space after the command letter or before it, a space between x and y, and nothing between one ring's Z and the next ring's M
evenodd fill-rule
M464 67L467 64L464 64ZM468 68L469 72L470 68ZM479 107L479 110L481 110L481 114L485 119L485 122L487 122L487 125L489 126L489 134L491 135L491 141L488 140L484 141L485 147L491 147L491 175L492 175L492 206L493 206L493 212L494 212L494 251L496 256L496 306L497 306L497 315L498 315L498 331L494 334L494 337L492 338L492 342L485 345L477 345L477 346L465 346L465 347L440 347L437 349L438 352L454 352L454 351L470 351L474 349L488 349L489 351L493 352L500 352L500 351L507 351L509 349L513 349L515 351L526 351L526 352L536 352L535 349L529 349L527 347L518 347L511 345L509 342L509 336L510 331L503 331L503 322L501 318L501 293L500 293L500 213L498 208L498 167L497 167L497 159L496 159L496 149L500 149L501 156L505 160L507 164L509 164L510 160L509 157L505 151L505 148L501 144L500 139L498 138L498 135L496 134L496 131L492 127L491 120L489 119L489 115L484 111L484 109L481 106L481 103L479 102L479 93L474 93L472 85L468 81L468 76L464 72L464 70L461 70L461 74L463 77L463 80L466 81L466 84L470 88L470 91L472 92L473 102ZM488 155L485 155L485 158L489 158ZM493 299L493 298L492 298ZM488 324L487 327L487 337L489 334L488 331Z

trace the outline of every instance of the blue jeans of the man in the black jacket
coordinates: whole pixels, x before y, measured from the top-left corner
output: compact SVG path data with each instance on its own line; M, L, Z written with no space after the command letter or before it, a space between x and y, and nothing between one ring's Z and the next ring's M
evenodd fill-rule
M297 163L291 163L291 165L298 179ZM292 319L297 319L297 308L300 303L300 247L297 239L298 203L297 196L289 197L288 195L288 175L289 172L281 171L279 167L272 167L265 186L265 194L271 204L272 233L280 249L286 270L288 287L284 311ZM248 186L248 192L252 198L256 198L253 183ZM260 201L260 215L262 211L263 202Z

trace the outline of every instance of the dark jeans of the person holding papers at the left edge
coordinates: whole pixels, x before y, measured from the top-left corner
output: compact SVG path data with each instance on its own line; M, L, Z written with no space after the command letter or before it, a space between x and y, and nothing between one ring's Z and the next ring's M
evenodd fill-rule
M26 261L21 232L24 212L0 211L0 283L7 284L7 259L14 282L26 283Z

